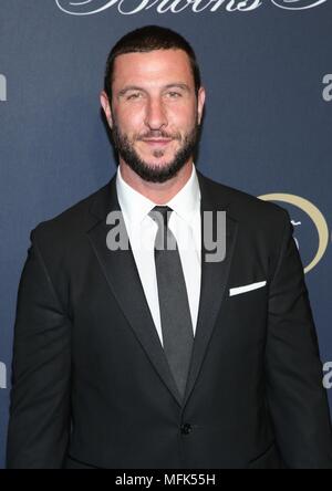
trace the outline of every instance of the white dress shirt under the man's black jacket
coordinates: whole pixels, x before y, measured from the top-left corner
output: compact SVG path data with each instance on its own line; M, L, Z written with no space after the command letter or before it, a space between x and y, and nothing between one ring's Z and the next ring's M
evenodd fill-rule
M154 255L154 244L158 227L152 217L148 216L148 212L156 203L124 181L120 166L117 167L116 175L116 191L145 297L163 345ZM193 165L191 176L186 185L165 206L174 210L170 215L168 227L174 233L178 245L195 335L201 275L200 189L195 165ZM172 285L169 286L172 288Z

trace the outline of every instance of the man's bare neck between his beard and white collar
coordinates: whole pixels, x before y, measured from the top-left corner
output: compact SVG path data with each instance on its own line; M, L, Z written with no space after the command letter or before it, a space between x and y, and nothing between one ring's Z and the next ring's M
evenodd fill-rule
M193 159L188 160L177 175L166 180L166 182L149 182L142 179L142 177L123 160L120 161L120 170L123 180L135 189L135 191L154 201L156 205L165 205L174 198L189 180L193 165Z

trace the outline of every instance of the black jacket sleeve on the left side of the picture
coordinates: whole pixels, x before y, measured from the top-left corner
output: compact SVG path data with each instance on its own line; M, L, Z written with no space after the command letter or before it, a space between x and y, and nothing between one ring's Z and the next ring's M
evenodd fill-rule
M17 303L9 469L63 466L70 432L71 322L31 232Z

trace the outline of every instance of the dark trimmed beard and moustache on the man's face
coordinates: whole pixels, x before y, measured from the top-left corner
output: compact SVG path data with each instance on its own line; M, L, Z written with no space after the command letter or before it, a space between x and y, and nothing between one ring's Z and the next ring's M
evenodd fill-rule
M184 137L181 137L180 134L169 135L162 130L151 130L144 135L129 139L127 135L121 132L115 122L112 128L112 137L120 156L142 179L149 182L165 182L175 177L194 156L199 139L198 117L196 118L193 129L185 134ZM181 145L168 164L163 166L157 164L154 165L143 160L134 148L134 143L143 140L144 138L173 138L180 142ZM158 160L164 154L164 150L154 150L153 156Z

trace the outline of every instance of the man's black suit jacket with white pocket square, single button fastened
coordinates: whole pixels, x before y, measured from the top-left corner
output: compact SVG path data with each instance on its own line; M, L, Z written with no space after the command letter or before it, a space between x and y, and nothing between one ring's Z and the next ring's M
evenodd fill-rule
M120 209L115 176L32 231L18 295L9 468L332 468L289 215L198 178L201 211L227 211L227 255L201 263L184 400L132 251L106 247L106 216Z

